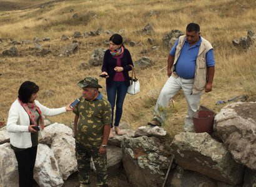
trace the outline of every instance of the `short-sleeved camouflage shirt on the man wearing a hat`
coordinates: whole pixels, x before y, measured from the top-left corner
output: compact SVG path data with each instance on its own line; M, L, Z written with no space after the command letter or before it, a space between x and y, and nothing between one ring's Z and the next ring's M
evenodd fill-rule
M100 146L104 124L111 124L111 105L101 93L93 101L81 99L73 110L79 116L76 141L83 146Z

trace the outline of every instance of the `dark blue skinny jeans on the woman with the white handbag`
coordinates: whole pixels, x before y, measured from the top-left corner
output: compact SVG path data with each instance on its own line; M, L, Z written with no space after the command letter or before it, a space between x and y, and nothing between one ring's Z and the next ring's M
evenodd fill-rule
M112 122L114 119L114 108L116 103L116 116L114 126L118 127L119 122L122 117L122 105L124 103L124 98L126 97L126 93L128 90L128 86L125 82L112 81L110 86L107 86L107 100L111 103L112 109ZM111 128L113 124L111 123Z

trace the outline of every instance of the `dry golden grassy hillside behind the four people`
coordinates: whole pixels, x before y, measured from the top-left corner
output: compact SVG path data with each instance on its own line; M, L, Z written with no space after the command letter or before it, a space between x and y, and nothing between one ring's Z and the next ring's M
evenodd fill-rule
M11 2L11 1L9 1ZM129 122L133 128L145 125L152 117L152 108L158 97L160 89L167 80L167 55L169 49L162 45L162 37L172 29L179 29L185 33L189 22L197 22L201 27L201 34L212 42L215 54L214 89L204 93L201 103L218 112L224 105L215 105L218 100L228 100L237 95L247 94L249 100L255 100L256 95L256 64L255 44L249 50L237 49L232 45L233 39L247 36L248 30L256 32L255 1L243 0L202 0L202 1L175 1L175 0L139 0L139 1L55 1L44 3L39 1L12 1L34 2L36 8L0 11L0 119L6 122L7 112L11 103L17 97L17 90L22 82L31 80L40 87L39 101L48 107L60 107L72 102L81 94L76 86L77 82L85 76L98 77L101 67L81 69L82 62L88 62L92 51L99 47L107 49L104 40L109 34L96 37L77 39L79 50L69 57L59 57L62 47L71 44L61 41L62 34L72 37L74 31L95 31L102 27L104 31L111 29L114 32L124 29L127 41L135 41L136 46L127 49L132 59L138 60L144 54L142 49L148 49L145 56L154 61L154 66L147 69L137 69L137 78L140 80L141 92L138 95L127 95L124 103L122 121ZM0 1L1 6L2 1ZM37 8L38 7L38 8ZM41 7L41 8L40 8ZM1 7L0 7L0 10ZM157 14L150 16L150 11ZM72 16L77 13L79 19ZM94 16L94 15L97 16ZM154 26L155 33L146 36L138 31L145 24ZM45 57L36 55L34 44L16 46L18 57L4 57L2 51L9 49L11 40L33 40L34 37L51 37L51 41L41 42L43 47L49 47L51 54ZM152 37L159 50L152 51L147 39ZM104 79L102 92L106 94ZM54 94L47 96L47 90ZM170 105L172 117L168 118L165 129L174 135L182 132L184 117L187 111L186 102L182 92L174 97L174 107ZM52 117L52 121L72 123L74 115L66 113Z

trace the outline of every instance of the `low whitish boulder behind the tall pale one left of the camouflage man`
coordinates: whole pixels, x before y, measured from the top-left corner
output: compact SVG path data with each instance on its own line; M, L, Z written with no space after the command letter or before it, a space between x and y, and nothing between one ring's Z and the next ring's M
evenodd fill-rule
M68 135L72 137L73 132L72 129L67 127L64 124L61 123L52 123L51 125L48 125L44 128L44 139L39 140L39 143L44 143L48 146L51 146L52 140L56 135Z

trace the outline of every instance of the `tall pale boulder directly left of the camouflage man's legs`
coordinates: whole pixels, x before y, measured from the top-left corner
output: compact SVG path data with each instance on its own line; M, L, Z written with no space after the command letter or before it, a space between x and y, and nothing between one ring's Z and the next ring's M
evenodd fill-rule
M63 180L77 171L76 143L70 135L58 134L51 144L51 150L59 165Z

